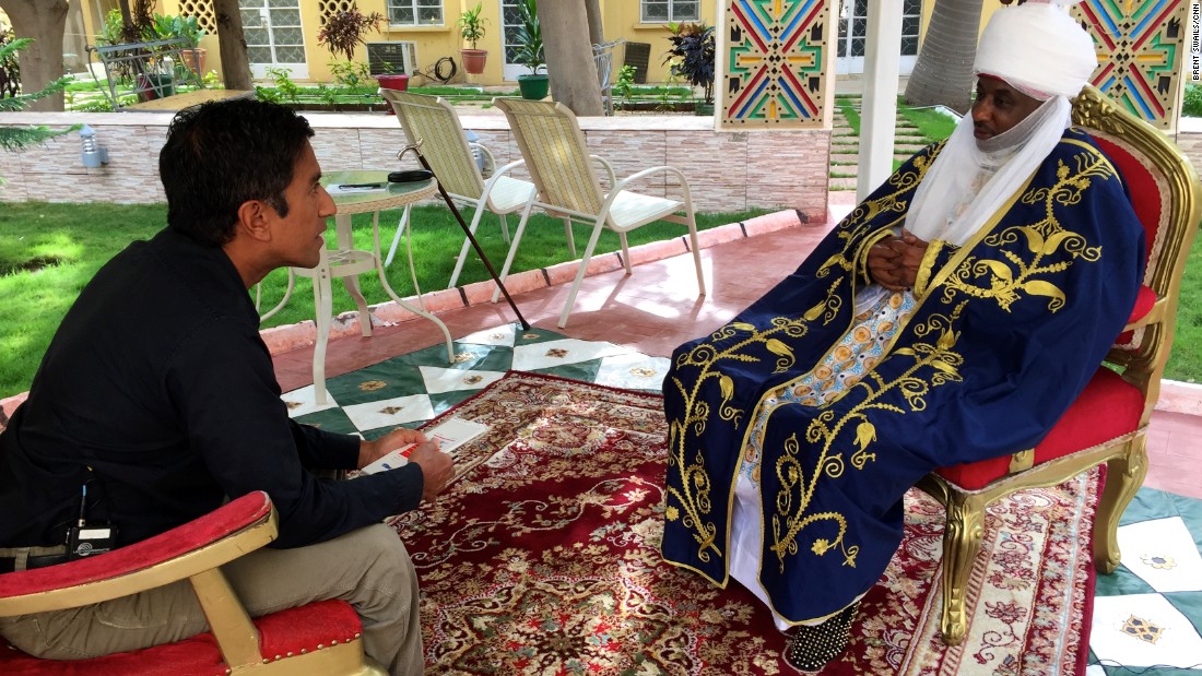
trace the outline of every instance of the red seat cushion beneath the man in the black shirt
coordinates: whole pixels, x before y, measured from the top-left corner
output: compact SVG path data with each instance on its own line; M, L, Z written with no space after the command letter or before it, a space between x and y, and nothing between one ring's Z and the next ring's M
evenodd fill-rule
M355 609L343 600L322 600L281 610L255 620L263 657L299 656L319 645L344 644L359 634ZM0 674L29 676L224 676L226 665L213 634L198 634L175 644L123 652L94 659L54 662L36 659L0 642ZM287 657L284 657L287 659Z

